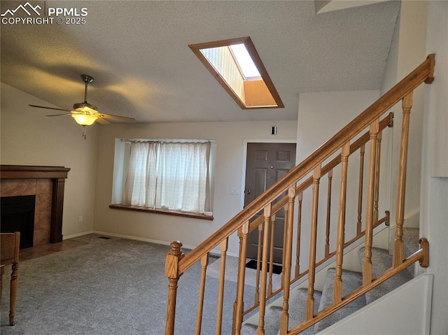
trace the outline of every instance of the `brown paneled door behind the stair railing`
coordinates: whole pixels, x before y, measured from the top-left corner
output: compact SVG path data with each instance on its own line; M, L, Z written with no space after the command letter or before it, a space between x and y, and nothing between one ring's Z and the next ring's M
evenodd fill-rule
M295 166L295 143L247 143L244 206L282 178ZM276 213L274 229L274 262L282 263L283 209ZM262 215L262 212L255 215ZM269 238L270 241L270 238ZM247 257L257 259L258 229L248 236Z

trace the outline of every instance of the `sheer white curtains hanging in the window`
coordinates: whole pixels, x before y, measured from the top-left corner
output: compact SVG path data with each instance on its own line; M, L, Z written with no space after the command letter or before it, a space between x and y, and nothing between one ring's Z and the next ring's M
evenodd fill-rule
M123 204L209 212L209 157L209 142L132 142Z

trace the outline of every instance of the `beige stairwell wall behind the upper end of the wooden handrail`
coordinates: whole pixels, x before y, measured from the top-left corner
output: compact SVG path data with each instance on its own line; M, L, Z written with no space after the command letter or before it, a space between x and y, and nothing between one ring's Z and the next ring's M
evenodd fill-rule
M426 3L427 1L401 1L391 50L386 64L386 72L381 85L381 94L405 78L426 59ZM419 227L420 175L421 175L421 138L423 131L423 92L424 85L414 91L409 127L409 155L407 159L407 183L405 226ZM398 158L400 154L400 135L402 106L393 108L393 136L386 136L384 144L391 148L391 227L395 226L395 211L398 189ZM393 234L391 234L393 237Z

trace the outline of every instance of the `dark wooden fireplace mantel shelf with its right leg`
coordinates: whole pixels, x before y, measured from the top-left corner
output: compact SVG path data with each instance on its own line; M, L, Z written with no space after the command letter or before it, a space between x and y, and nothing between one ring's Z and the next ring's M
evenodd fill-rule
M52 179L52 204L50 243L62 241L62 210L64 208L64 184L70 168L64 166L0 165L3 179Z

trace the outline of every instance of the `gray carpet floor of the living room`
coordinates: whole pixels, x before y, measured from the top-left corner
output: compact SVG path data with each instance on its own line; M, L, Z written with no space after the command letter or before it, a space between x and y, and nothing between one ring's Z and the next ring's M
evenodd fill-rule
M81 238L90 241L20 262L13 327L8 326L10 270L5 271L0 333L165 334L169 247L123 238ZM195 333L199 278L200 264L195 264L179 280L175 334ZM217 288L218 279L208 277L202 334L215 332ZM253 301L254 289L245 285L245 301ZM231 334L235 291L236 283L226 280L222 334Z

